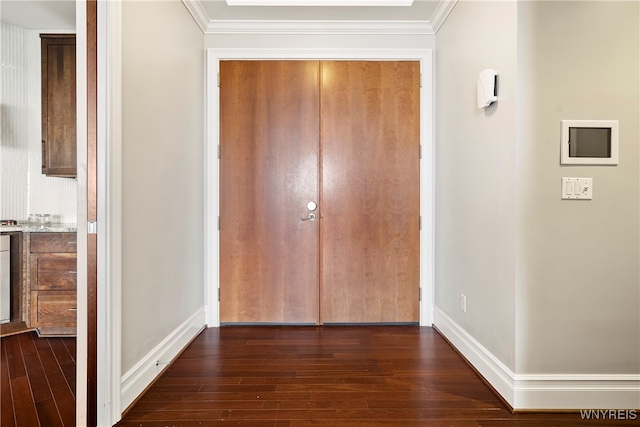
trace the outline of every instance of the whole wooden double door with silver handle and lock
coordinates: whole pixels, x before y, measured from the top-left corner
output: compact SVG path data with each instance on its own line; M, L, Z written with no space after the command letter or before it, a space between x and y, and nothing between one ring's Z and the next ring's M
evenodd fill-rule
M222 324L419 321L419 87L418 62L220 63Z

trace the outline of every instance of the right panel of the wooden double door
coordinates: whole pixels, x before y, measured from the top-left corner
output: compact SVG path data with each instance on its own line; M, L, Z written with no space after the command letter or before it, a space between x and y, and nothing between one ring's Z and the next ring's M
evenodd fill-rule
M420 65L321 73L321 321L418 322Z

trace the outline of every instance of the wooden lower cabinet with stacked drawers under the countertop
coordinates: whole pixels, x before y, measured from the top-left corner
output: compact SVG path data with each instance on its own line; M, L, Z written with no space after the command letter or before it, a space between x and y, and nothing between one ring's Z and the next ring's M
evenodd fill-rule
M31 233L29 320L40 335L75 335L75 233Z

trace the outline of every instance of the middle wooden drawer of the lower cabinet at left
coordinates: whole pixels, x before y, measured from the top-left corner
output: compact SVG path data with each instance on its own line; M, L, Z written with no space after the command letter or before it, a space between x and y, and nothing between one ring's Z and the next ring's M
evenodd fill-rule
M31 290L75 290L76 254L31 254Z

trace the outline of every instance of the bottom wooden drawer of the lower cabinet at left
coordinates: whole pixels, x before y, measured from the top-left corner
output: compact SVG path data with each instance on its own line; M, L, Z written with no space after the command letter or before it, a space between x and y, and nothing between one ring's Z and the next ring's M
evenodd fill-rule
M76 325L77 303L74 293L69 292L31 292L31 304L35 314L36 326L73 326Z

